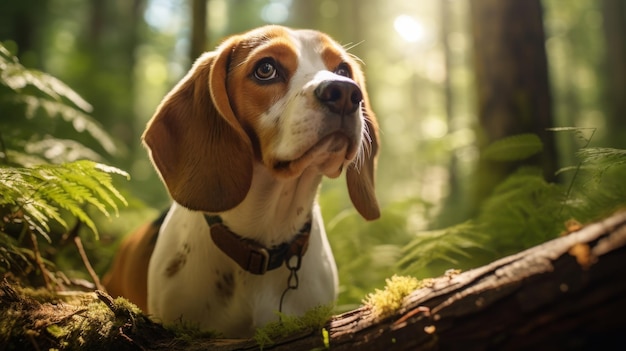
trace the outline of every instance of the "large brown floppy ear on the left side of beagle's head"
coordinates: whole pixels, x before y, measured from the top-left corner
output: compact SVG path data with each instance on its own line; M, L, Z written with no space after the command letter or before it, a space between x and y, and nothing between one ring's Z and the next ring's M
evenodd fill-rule
M163 99L142 139L172 198L191 210L222 212L245 198L253 151L226 93L236 38L205 53Z

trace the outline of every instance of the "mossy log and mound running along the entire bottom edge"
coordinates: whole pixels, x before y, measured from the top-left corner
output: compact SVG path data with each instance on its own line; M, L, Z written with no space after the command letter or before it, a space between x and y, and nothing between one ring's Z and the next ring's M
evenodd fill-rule
M264 350L623 349L626 339L626 212L415 290L394 315L368 307L324 330L275 339ZM108 319L87 305L40 303L0 284L0 350L255 350L254 340L182 340L132 307L100 294ZM44 313L45 314L41 314ZM92 320L90 320L90 318ZM74 327L75 328L75 327ZM73 339L70 338L73 336ZM73 344L75 343L75 344Z

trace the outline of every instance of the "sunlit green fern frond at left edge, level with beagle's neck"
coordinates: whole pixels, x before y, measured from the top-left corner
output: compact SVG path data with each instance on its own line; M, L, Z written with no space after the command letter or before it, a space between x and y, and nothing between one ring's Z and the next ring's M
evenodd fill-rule
M1 167L0 208L9 208L9 218L21 217L29 228L48 241L51 220L68 226L60 209L74 215L97 237L98 230L85 206L92 205L109 216L109 209L117 213L118 202L126 205L112 184L111 174L128 178L124 171L92 161L32 168Z

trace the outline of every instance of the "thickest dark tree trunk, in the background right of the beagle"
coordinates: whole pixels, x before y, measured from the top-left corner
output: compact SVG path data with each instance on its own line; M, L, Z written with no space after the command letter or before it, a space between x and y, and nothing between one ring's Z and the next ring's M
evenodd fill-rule
M479 146L521 133L544 144L540 158L524 164L543 168L548 180L557 169L550 89L539 0L470 1L477 82ZM476 206L520 163L482 159L477 172Z

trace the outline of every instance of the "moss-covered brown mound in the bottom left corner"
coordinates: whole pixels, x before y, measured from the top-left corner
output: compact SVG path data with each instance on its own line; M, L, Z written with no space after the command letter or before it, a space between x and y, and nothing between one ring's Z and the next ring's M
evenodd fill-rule
M0 308L0 344L7 349L22 349L21 342L30 340L27 346L40 350L122 351L173 337L137 306L100 292L59 295L4 281Z

